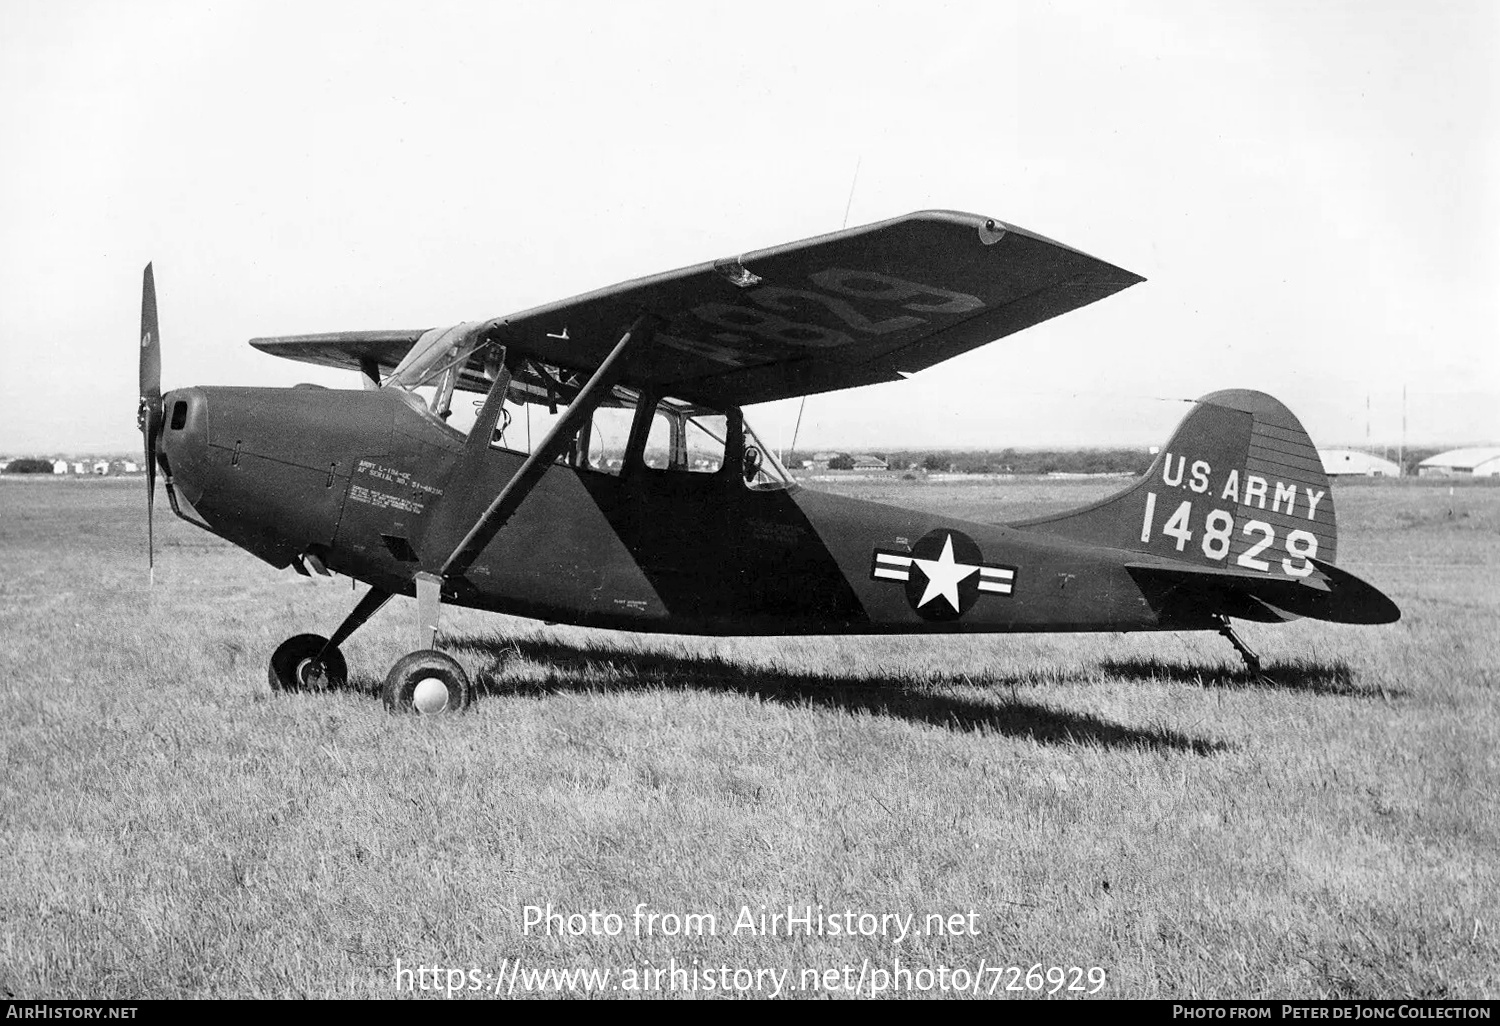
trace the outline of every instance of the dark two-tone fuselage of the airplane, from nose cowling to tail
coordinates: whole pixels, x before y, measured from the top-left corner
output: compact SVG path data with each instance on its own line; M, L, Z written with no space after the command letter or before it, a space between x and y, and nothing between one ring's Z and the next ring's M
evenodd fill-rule
M204 526L276 567L392 594L435 572L525 453L394 388L194 387L164 399L164 470ZM1203 628L1126 552L830 495L752 488L740 412L706 472L555 464L460 576L453 604L693 634ZM456 480L456 474L462 480Z

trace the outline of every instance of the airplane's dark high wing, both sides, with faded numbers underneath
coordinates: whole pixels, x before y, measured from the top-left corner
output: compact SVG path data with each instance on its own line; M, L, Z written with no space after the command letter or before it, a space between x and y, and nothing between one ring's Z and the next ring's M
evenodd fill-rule
M927 210L612 285L498 318L489 330L507 350L590 374L626 326L650 315L656 344L632 356L624 384L748 405L894 381L1140 280L992 218ZM250 344L388 370L417 334ZM482 363L483 354L470 360L460 387L483 390Z

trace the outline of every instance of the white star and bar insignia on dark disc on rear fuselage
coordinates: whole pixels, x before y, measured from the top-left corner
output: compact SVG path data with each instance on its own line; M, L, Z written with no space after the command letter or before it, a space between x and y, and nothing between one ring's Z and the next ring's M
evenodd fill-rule
M906 602L922 620L957 620L981 594L1008 596L1016 567L986 562L980 546L962 531L928 531L909 552L876 549L873 580L906 585Z

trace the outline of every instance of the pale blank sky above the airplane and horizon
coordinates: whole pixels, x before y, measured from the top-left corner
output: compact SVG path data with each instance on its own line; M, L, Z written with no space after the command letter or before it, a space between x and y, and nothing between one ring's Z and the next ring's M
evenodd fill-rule
M489 318L846 204L1149 280L813 396L802 448L1160 442L1224 387L1318 444L1395 442L1404 386L1413 442L1500 442L1497 12L6 0L0 453L138 447L147 260L166 387L354 387L246 339ZM796 410L750 416L777 446Z

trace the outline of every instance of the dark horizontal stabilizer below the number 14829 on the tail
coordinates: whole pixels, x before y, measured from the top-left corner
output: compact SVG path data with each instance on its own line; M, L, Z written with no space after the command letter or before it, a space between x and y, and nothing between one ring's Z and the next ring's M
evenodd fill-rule
M1392 624L1401 618L1394 602L1372 585L1330 562L1311 560L1305 578L1274 578L1214 567L1173 566L1168 562L1126 562L1132 578L1144 584L1168 585L1190 594L1210 612L1244 620L1290 620L1308 616L1335 624ZM1254 615L1252 608L1268 614Z

